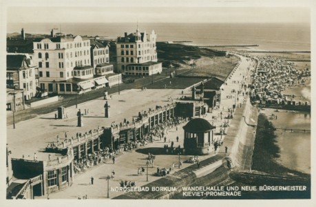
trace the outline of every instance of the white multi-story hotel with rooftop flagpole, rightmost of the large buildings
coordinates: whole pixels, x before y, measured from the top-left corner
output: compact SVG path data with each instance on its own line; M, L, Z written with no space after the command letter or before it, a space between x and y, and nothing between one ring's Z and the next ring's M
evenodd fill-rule
M162 72L156 52L157 34L136 32L118 37L116 43L117 72L124 75L153 75Z

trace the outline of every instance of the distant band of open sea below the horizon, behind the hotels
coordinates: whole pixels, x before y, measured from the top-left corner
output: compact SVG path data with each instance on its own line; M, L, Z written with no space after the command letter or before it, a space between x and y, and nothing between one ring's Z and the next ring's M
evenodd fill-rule
M199 46L259 45L258 50L310 51L310 24L302 23L8 23L7 32L56 32L116 39L137 27L154 30L157 41L190 41Z

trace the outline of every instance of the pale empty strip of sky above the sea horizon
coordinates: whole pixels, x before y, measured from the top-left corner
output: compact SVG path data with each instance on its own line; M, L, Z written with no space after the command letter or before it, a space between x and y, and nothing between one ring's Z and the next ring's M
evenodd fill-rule
M77 5L78 6L78 5ZM36 11L36 12L30 12ZM48 15L49 14L49 15ZM308 7L95 6L8 7L8 23L310 23Z

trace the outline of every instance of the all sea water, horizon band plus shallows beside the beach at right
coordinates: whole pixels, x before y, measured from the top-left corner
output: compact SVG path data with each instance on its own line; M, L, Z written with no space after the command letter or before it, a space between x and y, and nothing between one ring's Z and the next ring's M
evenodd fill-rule
M266 51L310 51L310 24L302 23L10 23L7 32L21 32L21 28L32 34L50 34L50 30L56 28L55 32L98 35L108 39L116 39L124 36L124 32L135 32L139 28L147 33L154 30L157 41L189 41L198 46L258 45L253 48ZM302 96L310 97L310 85L297 90ZM282 114L284 120L292 120L291 126L284 127L310 128L310 113ZM281 148L281 164L310 173L310 133L278 134L277 144Z

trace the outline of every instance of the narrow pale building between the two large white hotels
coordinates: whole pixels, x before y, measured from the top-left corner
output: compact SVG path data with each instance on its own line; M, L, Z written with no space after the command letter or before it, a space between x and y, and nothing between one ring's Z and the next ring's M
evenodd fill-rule
M109 44L103 45L100 41L90 39L91 66L96 68L98 64L109 63ZM94 75L96 72L94 72Z

